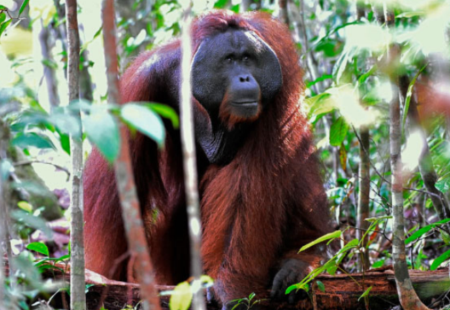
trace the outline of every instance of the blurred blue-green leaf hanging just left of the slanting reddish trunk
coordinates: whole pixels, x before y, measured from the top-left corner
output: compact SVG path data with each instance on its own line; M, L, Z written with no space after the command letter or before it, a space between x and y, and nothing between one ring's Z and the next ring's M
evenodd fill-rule
M119 155L120 133L114 117L106 110L96 111L83 118L83 127L89 141L110 162Z

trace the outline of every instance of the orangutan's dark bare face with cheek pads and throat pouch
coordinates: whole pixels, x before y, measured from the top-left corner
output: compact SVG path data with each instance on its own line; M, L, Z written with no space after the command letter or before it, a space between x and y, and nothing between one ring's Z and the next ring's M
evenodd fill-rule
M197 142L211 163L227 164L249 126L282 86L273 50L255 33L228 30L202 42L192 63Z

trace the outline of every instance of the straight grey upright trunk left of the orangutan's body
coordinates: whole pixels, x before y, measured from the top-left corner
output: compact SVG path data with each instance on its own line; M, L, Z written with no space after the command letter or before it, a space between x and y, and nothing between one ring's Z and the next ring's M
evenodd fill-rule
M80 37L78 33L77 0L66 1L69 102L79 99ZM77 112L80 119L80 112ZM81 132L71 136L72 195L70 197L70 309L86 309L83 238L83 146Z

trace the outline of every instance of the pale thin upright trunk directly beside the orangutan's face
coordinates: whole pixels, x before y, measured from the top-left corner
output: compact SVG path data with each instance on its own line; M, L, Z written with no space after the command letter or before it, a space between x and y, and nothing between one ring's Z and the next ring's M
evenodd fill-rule
M180 113L181 113L181 143L183 146L184 184L186 189L186 203L188 214L191 273L194 277L192 283L193 300L192 308L205 309L203 292L201 290L200 276L202 275L202 261L200 256L202 226L200 221L200 206L198 197L197 162L195 154L194 118L192 112L191 92L191 57L192 40L190 33L191 4L184 11L182 36L181 36L181 89L180 89Z

